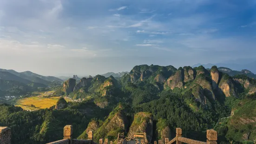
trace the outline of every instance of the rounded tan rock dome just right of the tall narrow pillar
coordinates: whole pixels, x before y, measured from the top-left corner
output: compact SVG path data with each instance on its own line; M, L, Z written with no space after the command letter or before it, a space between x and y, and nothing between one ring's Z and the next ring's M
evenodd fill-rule
M230 97L231 95L237 97L233 79L230 79L228 75L223 75L219 83L219 88L222 90L226 97Z

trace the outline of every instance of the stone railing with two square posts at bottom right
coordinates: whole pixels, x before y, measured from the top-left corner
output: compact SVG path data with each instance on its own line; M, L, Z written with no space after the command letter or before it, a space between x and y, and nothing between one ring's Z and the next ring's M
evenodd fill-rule
M207 142L200 142L197 140L185 138L185 137L182 137L182 129L176 128L176 137L174 137L171 141L169 141L169 138L165 138L164 144L173 144L174 142L176 142L176 144L182 144L182 143L185 143L185 144L217 144L217 131L207 130L206 137L207 137ZM157 141L155 141L154 144L157 144ZM162 144L162 140L159 140L158 144Z

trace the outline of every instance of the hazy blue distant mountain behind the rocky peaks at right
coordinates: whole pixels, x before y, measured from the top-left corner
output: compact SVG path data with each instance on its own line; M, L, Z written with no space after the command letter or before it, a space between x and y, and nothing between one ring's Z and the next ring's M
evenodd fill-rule
M241 71L244 69L250 70L253 73L256 73L256 61L243 61L241 63L238 63L238 61L234 62L234 63L216 63L216 64L196 64L193 65L192 67L198 67L200 65L203 65L205 68L211 68L212 66L216 65L217 67L228 67L232 70L235 71Z

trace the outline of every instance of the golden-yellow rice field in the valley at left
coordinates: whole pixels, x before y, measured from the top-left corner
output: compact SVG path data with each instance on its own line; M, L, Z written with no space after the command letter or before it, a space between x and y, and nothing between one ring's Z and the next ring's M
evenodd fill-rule
M44 96L47 96L49 93L53 93L53 91L34 92L33 95L37 95L37 96L19 99L17 100L15 106L20 106L24 110L28 110L28 111L35 111L38 109L49 108L53 105L56 105L58 99L60 98L60 97L44 98ZM66 99L66 101L70 101L70 100ZM31 105L34 105L35 107L32 107Z

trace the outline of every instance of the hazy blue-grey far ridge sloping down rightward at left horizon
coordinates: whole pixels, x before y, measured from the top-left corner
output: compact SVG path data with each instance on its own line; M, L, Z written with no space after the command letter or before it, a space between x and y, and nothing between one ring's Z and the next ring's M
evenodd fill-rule
M53 81L59 81L62 82L62 79L56 78L56 77L52 77L52 76L41 76L39 74L33 73L33 72L16 72L14 70L6 70L6 69L0 69L0 72L10 72L20 78L23 79L27 79L29 81L32 81L34 83L40 83L40 84L44 84L44 85L49 85L51 82Z

